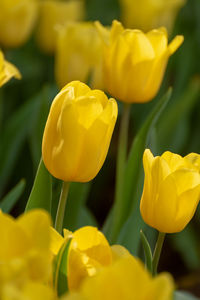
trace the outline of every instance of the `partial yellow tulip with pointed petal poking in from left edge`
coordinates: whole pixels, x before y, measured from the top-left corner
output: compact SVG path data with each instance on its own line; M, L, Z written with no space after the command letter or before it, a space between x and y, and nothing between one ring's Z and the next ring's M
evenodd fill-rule
M3 52L0 50L0 87L12 77L20 79L21 75L15 66L4 59Z

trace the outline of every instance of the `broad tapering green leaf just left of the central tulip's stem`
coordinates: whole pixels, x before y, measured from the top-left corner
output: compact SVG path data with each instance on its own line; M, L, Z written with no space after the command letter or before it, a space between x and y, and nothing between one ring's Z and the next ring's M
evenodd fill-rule
M25 211L43 208L51 213L51 199L52 178L41 159Z

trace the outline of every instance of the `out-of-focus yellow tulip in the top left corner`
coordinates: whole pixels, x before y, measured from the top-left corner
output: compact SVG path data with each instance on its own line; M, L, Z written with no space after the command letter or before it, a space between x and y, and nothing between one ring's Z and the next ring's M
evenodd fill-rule
M29 38L37 18L37 0L0 1L0 45L19 47Z

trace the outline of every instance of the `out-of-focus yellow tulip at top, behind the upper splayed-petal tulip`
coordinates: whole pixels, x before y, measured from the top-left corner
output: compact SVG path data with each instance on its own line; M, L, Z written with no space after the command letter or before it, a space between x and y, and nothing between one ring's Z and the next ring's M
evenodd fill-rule
M173 28L185 0L120 0L122 22L126 27L148 31L160 26Z

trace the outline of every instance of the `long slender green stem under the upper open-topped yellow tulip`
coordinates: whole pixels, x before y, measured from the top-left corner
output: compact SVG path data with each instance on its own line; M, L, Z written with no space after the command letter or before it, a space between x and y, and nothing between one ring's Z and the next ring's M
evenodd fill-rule
M128 127L130 117L130 104L124 104L118 142L117 153L117 167L116 167L116 186L115 186L115 203L114 203L114 217L113 228L111 234L111 242L116 242L119 230L123 223L123 182L124 169L127 159L128 147Z

